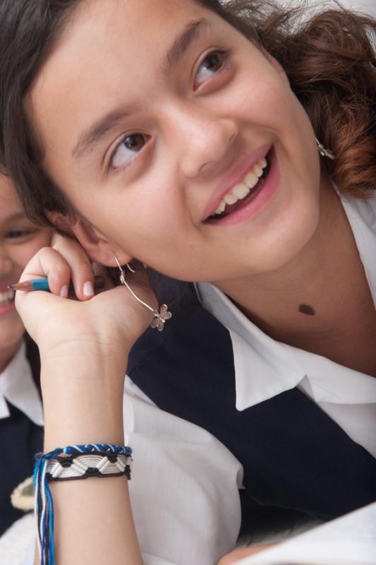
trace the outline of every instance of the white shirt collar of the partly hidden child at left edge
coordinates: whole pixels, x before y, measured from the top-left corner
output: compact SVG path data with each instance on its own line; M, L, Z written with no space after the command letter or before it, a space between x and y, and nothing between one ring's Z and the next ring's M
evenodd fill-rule
M43 425L42 401L32 379L24 342L21 343L11 362L0 373L0 419L11 415L6 400L21 410L32 422L38 426Z

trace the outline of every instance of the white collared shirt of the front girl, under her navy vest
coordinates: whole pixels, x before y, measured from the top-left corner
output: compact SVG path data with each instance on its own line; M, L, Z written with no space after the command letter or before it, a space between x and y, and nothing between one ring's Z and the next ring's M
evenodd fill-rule
M343 203L376 303L376 201ZM298 386L376 456L375 378L272 340L212 285L199 283L197 290L203 306L229 328L238 410ZM241 464L209 432L159 410L129 378L124 418L145 565L217 563L234 547L240 527Z

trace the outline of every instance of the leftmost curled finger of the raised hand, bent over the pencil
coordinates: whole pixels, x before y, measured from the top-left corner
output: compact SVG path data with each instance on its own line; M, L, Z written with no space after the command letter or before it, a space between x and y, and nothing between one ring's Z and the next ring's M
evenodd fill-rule
M71 268L58 251L43 247L32 257L21 275L20 282L33 278L48 278L49 290L54 295L68 296Z

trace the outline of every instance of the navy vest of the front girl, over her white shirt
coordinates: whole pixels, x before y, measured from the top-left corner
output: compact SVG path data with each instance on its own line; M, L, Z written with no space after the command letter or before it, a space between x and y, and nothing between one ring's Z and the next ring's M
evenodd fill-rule
M236 410L229 332L190 287L167 304L174 317L162 333L142 335L128 374L159 408L207 429L234 453L253 501L326 520L376 500L368 451L298 388Z

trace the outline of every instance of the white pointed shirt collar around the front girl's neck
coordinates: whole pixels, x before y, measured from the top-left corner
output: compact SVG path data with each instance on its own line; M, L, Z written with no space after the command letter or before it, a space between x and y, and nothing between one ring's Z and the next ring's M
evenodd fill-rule
M376 304L376 201L342 198ZM236 408L245 410L297 386L305 377L316 402L375 403L376 379L269 338L210 283L197 283L202 306L229 329ZM346 386L340 385L346 378Z

